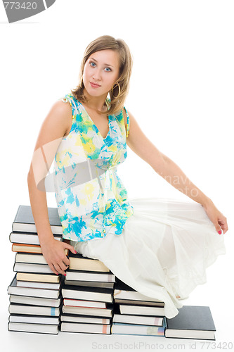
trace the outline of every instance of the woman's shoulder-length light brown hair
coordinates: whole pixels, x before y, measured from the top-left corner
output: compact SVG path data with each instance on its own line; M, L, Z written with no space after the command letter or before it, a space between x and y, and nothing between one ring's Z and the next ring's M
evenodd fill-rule
M80 72L79 72L79 84L73 90L72 94L79 101L86 102L86 97L84 96L84 82L83 82L83 73L84 65L88 60L91 54L96 51L111 49L116 51L119 54L119 78L113 87L110 90L110 108L108 113L110 115L118 113L124 107L124 101L129 92L129 81L131 77L132 69L132 57L129 47L126 45L124 40L115 39L110 35L103 35L93 40L87 47L84 52L84 58L82 60ZM119 86L118 86L118 84Z

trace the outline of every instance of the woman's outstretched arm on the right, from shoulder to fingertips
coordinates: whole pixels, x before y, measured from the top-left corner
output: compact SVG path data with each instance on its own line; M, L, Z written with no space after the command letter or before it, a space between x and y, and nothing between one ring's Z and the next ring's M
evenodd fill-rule
M124 120L126 125L126 115L124 115ZM226 218L214 206L212 200L188 179L174 161L164 155L150 142L131 113L129 113L129 120L130 132L126 143L131 150L146 161L146 163L148 163L158 175L162 176L164 180L169 182L171 186L175 187L183 194L186 194L186 196L193 199L193 201L202 204L210 220L214 223L217 232L220 232L221 229L223 233L227 232L228 225Z

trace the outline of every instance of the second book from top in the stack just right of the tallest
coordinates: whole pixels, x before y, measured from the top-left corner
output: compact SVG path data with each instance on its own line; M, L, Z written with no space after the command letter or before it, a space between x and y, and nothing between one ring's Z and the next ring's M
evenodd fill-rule
M112 273L68 269L66 274L66 279L70 281L115 282L115 275Z

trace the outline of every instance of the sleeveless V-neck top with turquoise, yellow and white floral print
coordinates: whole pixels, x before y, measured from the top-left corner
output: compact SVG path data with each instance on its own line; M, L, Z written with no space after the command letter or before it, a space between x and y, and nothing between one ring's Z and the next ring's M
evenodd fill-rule
M54 185L63 238L87 241L122 234L133 215L127 191L117 175L117 165L127 156L123 111L108 115L109 131L103 138L86 109L73 94L64 102L72 106L72 127L63 137L54 159ZM107 101L108 103L108 101Z

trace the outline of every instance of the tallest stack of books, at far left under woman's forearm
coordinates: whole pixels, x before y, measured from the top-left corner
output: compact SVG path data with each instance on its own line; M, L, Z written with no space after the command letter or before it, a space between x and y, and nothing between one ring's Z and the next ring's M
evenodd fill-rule
M48 208L48 215L55 239L63 241L57 208ZM30 206L19 206L12 230L16 253L15 276L8 287L8 330L58 334L63 277L52 272L41 253Z

